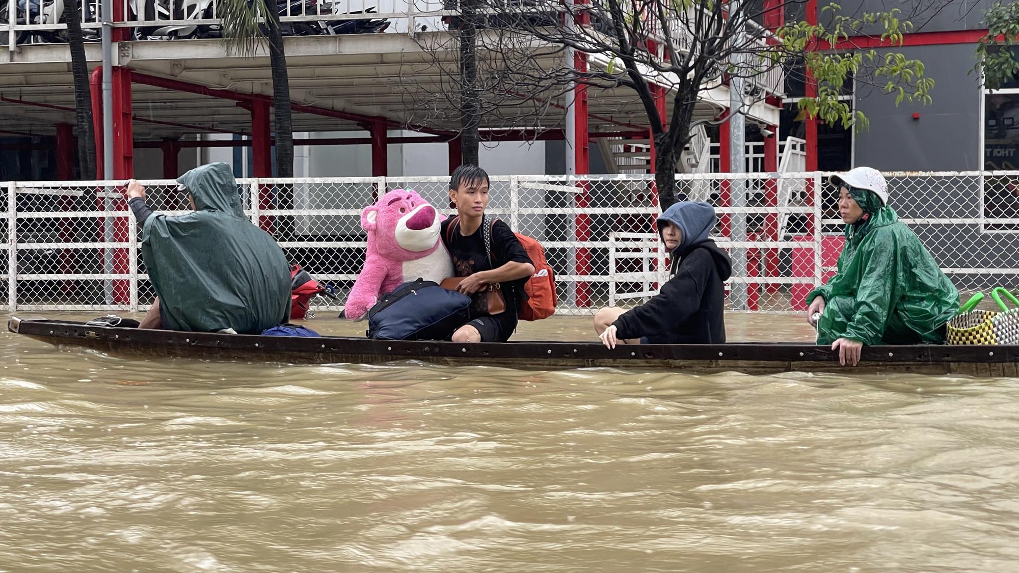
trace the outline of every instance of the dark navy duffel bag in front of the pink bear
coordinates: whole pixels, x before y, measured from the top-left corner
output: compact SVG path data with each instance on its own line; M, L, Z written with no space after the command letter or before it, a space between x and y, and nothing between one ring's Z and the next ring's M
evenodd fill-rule
M368 310L368 337L444 341L466 324L471 297L418 278L405 282Z

